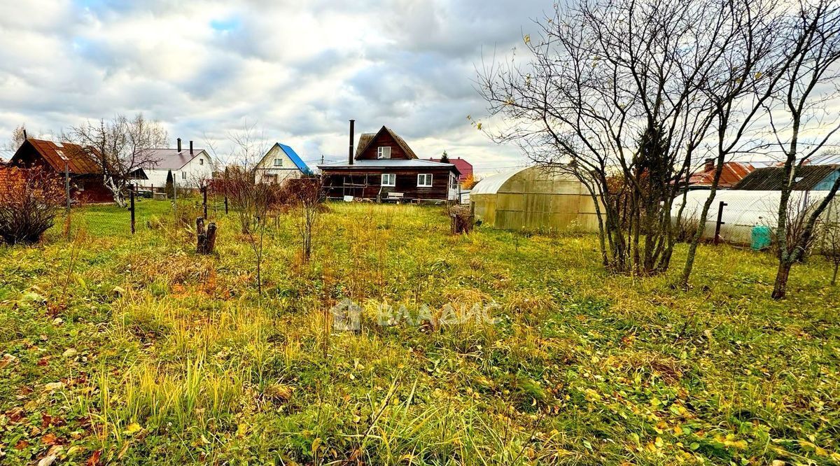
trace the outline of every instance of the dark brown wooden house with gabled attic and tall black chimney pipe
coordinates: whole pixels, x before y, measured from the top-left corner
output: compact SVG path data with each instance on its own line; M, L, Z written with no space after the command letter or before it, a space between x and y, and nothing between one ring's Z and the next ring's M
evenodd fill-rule
M350 120L347 163L318 165L328 198L377 202L449 202L458 198L458 168L417 158L390 128L362 134L354 151Z

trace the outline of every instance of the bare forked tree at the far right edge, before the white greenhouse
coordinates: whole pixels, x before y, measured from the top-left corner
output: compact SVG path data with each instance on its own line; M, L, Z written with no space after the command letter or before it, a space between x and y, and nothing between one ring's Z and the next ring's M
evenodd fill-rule
M802 228L789 238L788 223L791 192L799 172L811 156L840 129L840 118L829 105L840 97L837 89L837 63L840 60L840 3L835 0L801 0L785 16L783 28L785 54L790 58L781 92L765 104L772 137L783 158L784 181L779 202L779 268L773 289L774 299L787 293L790 269L806 254L816 233L816 224L840 188L840 177L832 183L820 202L808 209Z

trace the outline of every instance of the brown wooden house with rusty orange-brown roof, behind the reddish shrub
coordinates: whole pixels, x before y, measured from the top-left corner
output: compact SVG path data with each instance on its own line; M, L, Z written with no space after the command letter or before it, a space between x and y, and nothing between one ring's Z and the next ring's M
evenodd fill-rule
M113 202L113 193L102 181L102 168L77 144L28 138L8 165L49 167L56 175L70 175L73 199L81 202Z

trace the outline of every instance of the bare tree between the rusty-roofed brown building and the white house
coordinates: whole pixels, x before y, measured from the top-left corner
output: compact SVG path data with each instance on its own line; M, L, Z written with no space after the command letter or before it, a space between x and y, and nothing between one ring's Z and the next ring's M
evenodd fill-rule
M71 142L79 144L102 170L102 182L120 207L125 207L129 182L138 170L155 165L158 160L152 149L165 145L168 138L159 122L147 120L142 113L87 122L70 133Z

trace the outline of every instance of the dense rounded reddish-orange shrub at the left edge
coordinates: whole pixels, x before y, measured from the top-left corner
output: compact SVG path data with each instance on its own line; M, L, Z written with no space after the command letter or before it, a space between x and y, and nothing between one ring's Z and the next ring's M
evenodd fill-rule
M60 179L43 168L0 170L0 237L8 244L36 243L63 202Z

